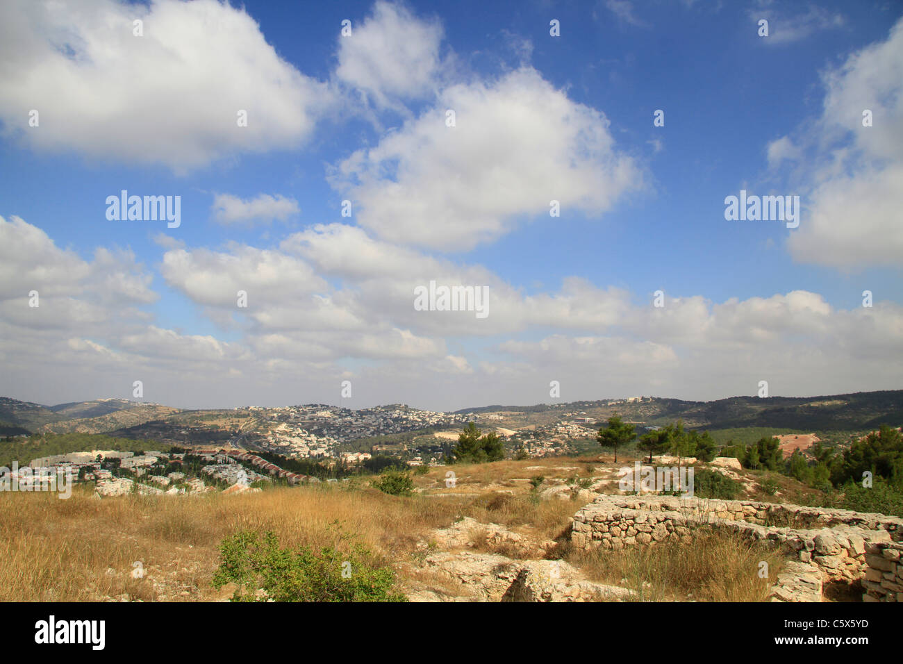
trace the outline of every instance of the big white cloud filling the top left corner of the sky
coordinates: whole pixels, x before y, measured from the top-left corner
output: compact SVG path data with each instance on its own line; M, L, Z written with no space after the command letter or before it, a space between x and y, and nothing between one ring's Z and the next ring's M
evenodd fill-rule
M144 22L135 36L133 22ZM244 11L216 0L0 5L0 120L37 149L164 164L297 146L327 86L282 60ZM28 126L29 112L40 125ZM237 113L247 111L247 126Z

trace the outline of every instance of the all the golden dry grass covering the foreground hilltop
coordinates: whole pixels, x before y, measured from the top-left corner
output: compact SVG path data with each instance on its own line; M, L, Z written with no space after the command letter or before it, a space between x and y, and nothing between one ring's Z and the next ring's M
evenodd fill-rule
M632 587L643 599L761 601L768 584L750 570L768 560L771 576L777 574L780 561L772 554L725 537L712 536L698 547L571 551L569 519L582 502L540 499L529 479L543 476L543 489L614 471L598 457L452 468L454 486L445 483L449 469L433 468L414 477L420 492L406 498L381 493L363 478L232 496L98 500L87 487L76 487L69 500L5 493L0 496L0 600L227 599L228 589L211 585L219 543L248 529L273 530L286 547L349 550L362 544L371 550L372 565L399 570L398 584L404 585L410 574L405 570L424 555L430 533L463 517L502 524L536 540L555 539L559 544L549 556L568 560L588 578ZM133 577L135 563L143 577Z

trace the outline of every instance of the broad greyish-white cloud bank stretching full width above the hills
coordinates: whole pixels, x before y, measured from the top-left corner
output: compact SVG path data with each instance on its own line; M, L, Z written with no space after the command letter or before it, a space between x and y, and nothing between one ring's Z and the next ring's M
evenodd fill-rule
M214 323L233 314L244 322L227 341L144 313L156 295L127 252L97 248L82 259L18 219L0 220L0 238L0 265L13 280L0 301L0 389L19 397L47 390L49 372L51 393L68 381L129 397L140 379L145 397L183 407L330 400L350 378L357 406L455 408L545 401L551 380L563 398L715 398L755 394L763 379L772 394L895 388L903 369L896 304L843 310L796 290L722 302L667 297L657 308L577 276L526 295L485 267L342 224L294 233L278 248L165 251L167 285ZM29 272L36 257L70 272ZM489 318L415 312L411 285L431 275L490 285ZM38 309L23 292L33 279L57 289ZM236 305L243 286L247 309Z

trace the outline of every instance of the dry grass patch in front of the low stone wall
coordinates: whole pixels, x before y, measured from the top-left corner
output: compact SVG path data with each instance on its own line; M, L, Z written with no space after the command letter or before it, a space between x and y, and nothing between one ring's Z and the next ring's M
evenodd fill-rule
M765 602L784 560L742 538L702 532L692 546L569 548L565 559L594 581L631 588L646 602ZM759 577L761 561L768 563L768 578Z

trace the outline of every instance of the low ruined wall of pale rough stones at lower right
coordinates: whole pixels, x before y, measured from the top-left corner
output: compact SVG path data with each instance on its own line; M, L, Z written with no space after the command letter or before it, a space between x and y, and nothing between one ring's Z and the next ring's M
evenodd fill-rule
M698 528L783 550L772 602L821 602L828 585L861 583L863 602L903 602L903 519L753 500L600 495L572 519L574 547L692 545Z

